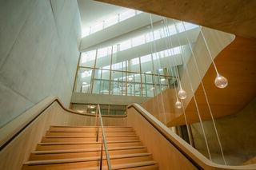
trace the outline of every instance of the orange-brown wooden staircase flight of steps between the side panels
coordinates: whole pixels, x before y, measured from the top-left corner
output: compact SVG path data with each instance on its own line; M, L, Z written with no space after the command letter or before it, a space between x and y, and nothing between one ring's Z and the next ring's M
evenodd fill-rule
M133 128L105 126L112 169L158 169ZM22 169L99 169L102 132L96 126L51 126ZM107 169L103 152L102 169Z

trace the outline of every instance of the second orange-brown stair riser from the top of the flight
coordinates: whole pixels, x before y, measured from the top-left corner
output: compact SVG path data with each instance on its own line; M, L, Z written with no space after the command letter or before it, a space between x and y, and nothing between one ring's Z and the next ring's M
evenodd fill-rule
M131 136L136 135L134 132L106 132L106 136ZM46 132L46 136L96 136L96 132ZM98 133L102 136L102 132Z

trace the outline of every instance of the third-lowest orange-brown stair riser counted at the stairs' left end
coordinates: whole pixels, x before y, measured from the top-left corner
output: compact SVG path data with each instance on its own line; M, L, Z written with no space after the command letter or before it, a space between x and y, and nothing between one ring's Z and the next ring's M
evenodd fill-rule
M108 148L113 147L128 147L128 146L142 146L141 142L128 142L128 143L109 143ZM42 145L38 144L37 151L50 151L50 150L64 150L64 149L86 149L86 148L100 148L101 144L54 144Z

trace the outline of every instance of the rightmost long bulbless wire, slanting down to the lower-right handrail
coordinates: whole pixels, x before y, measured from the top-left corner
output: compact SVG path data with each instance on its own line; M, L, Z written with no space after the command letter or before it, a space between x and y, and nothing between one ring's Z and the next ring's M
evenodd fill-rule
M185 33L186 33L186 26L184 25L184 22L182 22L182 25L183 25L184 30L185 30ZM201 30L201 28L200 28L200 30ZM195 55L194 55L194 50L193 50L193 48L192 48L192 45L191 45L190 39L188 38L187 33L186 33L186 40L187 40L187 42L188 42L189 45L190 45L190 51L191 51L191 53L192 53L192 57L193 57L193 60L194 60L194 64L196 65L196 69L197 69L197 72L198 72L198 77L200 77L200 81L201 81L200 83L201 83L201 85L202 85L202 91L203 91L203 93L204 93L204 95L205 95L205 97L206 97L207 107L208 107L208 109L209 109L210 117L211 117L211 119L212 119L212 121L213 121L213 125L214 125L214 131L215 131L215 133L216 133L216 136L217 136L217 139L218 139L218 144L219 144L219 147L220 147L221 152L222 152L222 159L223 159L223 161L224 161L224 164L226 165L226 160L225 160L225 156L224 156L224 153L223 153L222 143L221 143L221 140L219 139L219 136L218 136L218 130L217 130L217 128L216 128L215 121L214 121L214 117L213 117L213 113L212 113L212 110L211 110L211 108L210 108L210 103L209 103L209 100L208 100L208 97L207 97L206 89L205 89L205 86L203 85L202 78L201 78L201 76L200 76L200 71L199 71L199 69L198 69L198 61L196 61L196 58L195 58Z

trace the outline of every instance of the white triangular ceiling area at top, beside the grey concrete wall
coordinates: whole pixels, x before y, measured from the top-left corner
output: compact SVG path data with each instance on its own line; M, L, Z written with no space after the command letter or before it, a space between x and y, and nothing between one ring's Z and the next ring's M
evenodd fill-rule
M114 6L93 0L78 0L78 6L81 14L82 28L93 26L96 22L101 22L111 15L127 10L127 8L121 6Z

